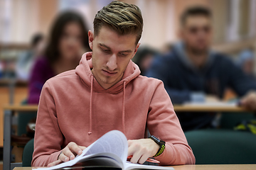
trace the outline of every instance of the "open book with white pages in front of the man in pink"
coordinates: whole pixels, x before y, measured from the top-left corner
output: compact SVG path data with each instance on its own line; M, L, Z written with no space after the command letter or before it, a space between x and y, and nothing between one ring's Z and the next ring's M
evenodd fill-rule
M112 130L96 140L92 145L82 151L82 154L69 162L63 162L49 168L38 168L36 170L63 169L70 166L86 167L110 167L123 170L129 169L174 169L164 166L150 166L142 164L132 164L127 162L128 143L125 135Z

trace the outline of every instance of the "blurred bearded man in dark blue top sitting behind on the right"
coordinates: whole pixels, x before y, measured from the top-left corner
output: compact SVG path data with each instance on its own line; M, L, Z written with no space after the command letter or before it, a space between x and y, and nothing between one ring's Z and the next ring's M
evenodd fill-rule
M256 111L256 83L229 57L210 50L212 14L208 8L188 8L181 16L181 42L165 57L154 60L147 76L164 81L173 103L223 98L227 87L240 97L241 106ZM249 92L250 91L250 92ZM178 114L183 130L208 128L215 114Z

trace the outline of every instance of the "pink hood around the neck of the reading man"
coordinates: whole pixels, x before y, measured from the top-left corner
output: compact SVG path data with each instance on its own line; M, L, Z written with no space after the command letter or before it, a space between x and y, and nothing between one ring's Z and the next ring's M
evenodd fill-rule
M132 60L129 61L129 64L127 65L127 68L124 71L124 75L122 79L117 82L117 84L114 84L114 86L110 87L110 89L104 89L100 84L98 84L97 80L93 77L92 74L92 52L86 52L82 55L82 58L80 60L80 64L78 67L75 68L75 73L78 74L80 79L83 81L83 83L91 87L91 84L93 84L93 91L97 92L108 92L111 94L117 94L120 91L122 91L124 82L125 86L129 84L129 81L132 81L132 79L135 79L139 76L140 70L137 64L132 62ZM92 79L93 77L93 79ZM93 82L92 82L93 81Z

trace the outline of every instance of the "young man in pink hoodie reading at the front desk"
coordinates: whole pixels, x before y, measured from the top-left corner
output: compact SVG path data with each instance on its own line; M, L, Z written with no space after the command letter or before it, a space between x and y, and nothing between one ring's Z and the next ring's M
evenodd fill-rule
M154 157L162 165L194 164L164 84L139 75L132 62L142 35L142 13L135 5L113 1L95 16L89 31L92 52L75 70L46 81L36 121L32 166L74 159L110 130L120 130L131 162ZM166 142L157 144L146 136Z

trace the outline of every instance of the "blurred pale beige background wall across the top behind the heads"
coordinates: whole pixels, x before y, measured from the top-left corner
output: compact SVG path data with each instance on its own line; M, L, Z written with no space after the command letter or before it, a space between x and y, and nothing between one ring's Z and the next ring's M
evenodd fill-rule
M122 1L137 4L142 9L144 32L141 42L144 45L150 45L158 49L168 42L178 40L179 16L185 8L195 5L208 6L213 10L214 44L221 44L227 40L240 40L240 35L242 35L242 38L246 38L246 35L250 35L247 38L255 37L256 12L254 9L256 9L256 2L254 0ZM47 35L55 15L70 6L84 14L90 29L92 29L95 13L102 6L108 4L110 0L77 0L72 1L72 3L68 0L9 0L8 2L1 2L2 6L9 6L10 9L9 12L3 12L2 10L1 13L6 13L6 17L5 15L4 17L11 17L11 20L9 26L4 26L3 22L0 22L3 28L1 33L4 34L2 38L0 37L0 42L4 40L4 42L28 43L34 33L42 32ZM80 4L75 6L78 3ZM63 4L66 4L65 8L63 8ZM240 10L238 10L239 8ZM240 11L240 13L237 11ZM255 16L251 17L253 13ZM247 19L241 20L240 18ZM3 20L3 18L0 19ZM249 25L248 22L253 24ZM237 26L238 24L239 26Z

